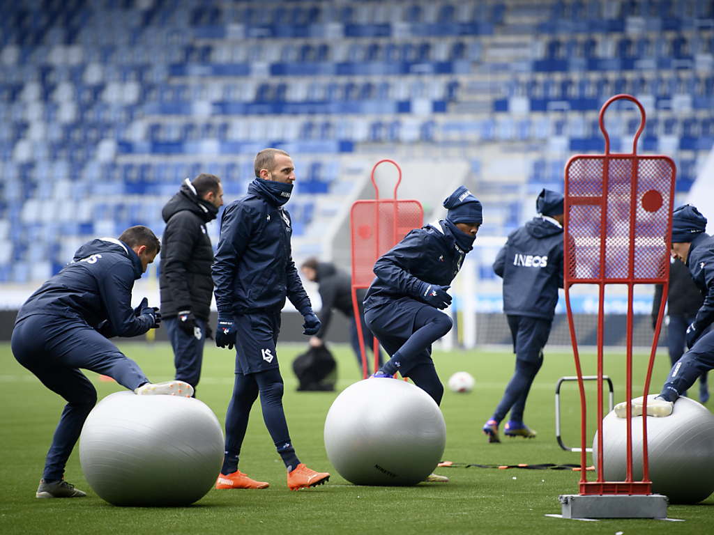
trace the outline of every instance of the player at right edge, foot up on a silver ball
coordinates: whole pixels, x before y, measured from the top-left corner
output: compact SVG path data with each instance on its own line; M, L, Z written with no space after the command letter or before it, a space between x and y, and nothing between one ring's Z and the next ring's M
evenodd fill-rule
M665 417L672 414L674 402L686 392L703 372L714 369L714 238L704 232L706 218L692 205L677 208L672 216L671 254L689 267L695 285L704 296L694 321L686 332L688 351L672 367L662 392L648 399L647 414ZM643 399L632 400L632 415L642 414ZM615 405L615 414L626 417L627 403Z

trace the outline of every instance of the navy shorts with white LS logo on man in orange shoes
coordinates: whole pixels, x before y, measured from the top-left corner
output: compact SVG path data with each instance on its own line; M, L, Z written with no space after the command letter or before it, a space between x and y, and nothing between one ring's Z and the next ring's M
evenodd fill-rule
M236 322L236 373L243 375L279 367L276 344L280 312L234 315Z

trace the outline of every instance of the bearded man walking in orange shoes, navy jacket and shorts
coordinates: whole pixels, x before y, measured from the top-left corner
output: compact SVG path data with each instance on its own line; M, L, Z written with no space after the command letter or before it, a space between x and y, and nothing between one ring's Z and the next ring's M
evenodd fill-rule
M295 181L293 161L285 151L266 148L256 156L254 168L256 179L248 193L223 212L213 263L216 345L236 346L236 382L226 413L226 452L216 489L268 486L238 471L248 416L260 394L263 420L288 471L288 487L296 490L323 484L330 474L302 464L288 433L276 353L286 297L305 318L304 334L315 335L320 320L293 263L291 219L283 208Z

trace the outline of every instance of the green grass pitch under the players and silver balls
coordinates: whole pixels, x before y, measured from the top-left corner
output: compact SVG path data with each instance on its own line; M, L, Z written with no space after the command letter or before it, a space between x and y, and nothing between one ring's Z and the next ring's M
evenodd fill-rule
M168 344L125 342L120 345L152 381L173 377L173 354ZM714 496L695 506L670 506L671 519L601 520L555 519L558 495L577 494L578 472L524 469L440 468L448 484L419 484L408 488L354 486L331 467L323 444L323 425L339 391L360 378L348 346L332 347L338 360L336 392L296 392L291 362L306 345L278 345L286 384L284 405L293 444L308 467L331 472L328 484L291 492L286 472L263 424L256 403L241 454L241 471L269 481L266 490L211 490L193 506L176 509L120 508L96 496L79 465L78 447L69 460L66 480L88 493L84 499L39 500L34 493L44 457L64 400L49 392L12 357L9 343L0 344L0 533L11 534L581 534L615 535L711 534ZM505 439L487 444L481 426L501 399L513 373L513 355L503 351L434 352L434 362L446 384L453 372L465 370L476 379L468 394L448 388L441 403L448 439L443 459L475 464L578 464L580 454L565 452L555 441L555 382L574 375L570 351L546 348L545 363L535 378L526 407L526 423L538 431L532 440ZM582 356L583 372L595 373L594 352ZM644 384L648 355L634 358L635 392ZM658 355L651 392L658 392L668 372L668 357ZM623 351L605 353L605 373L615 382L615 402L625 398ZM100 382L91 372L99 398L121 387ZM198 398L223 422L233 385L233 352L206 346ZM589 440L594 428L595 389L588 384ZM579 445L580 405L575 383L560 394L563 441ZM503 426L501 427L503 431ZM714 462L714 460L713 460ZM588 464L591 459L588 458ZM588 472L590 479L593 472ZM171 484L181 486L181 474Z

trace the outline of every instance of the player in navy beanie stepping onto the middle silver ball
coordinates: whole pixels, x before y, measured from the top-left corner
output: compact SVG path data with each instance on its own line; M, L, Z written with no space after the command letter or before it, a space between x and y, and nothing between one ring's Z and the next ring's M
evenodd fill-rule
M445 220L412 230L374 265L376 277L364 300L365 320L391 355L372 377L400 372L441 403L443 385L431 360L431 345L451 330L440 312L451 304L447 291L473 248L483 222L481 203L463 185L446 198ZM431 474L426 481L448 479Z

